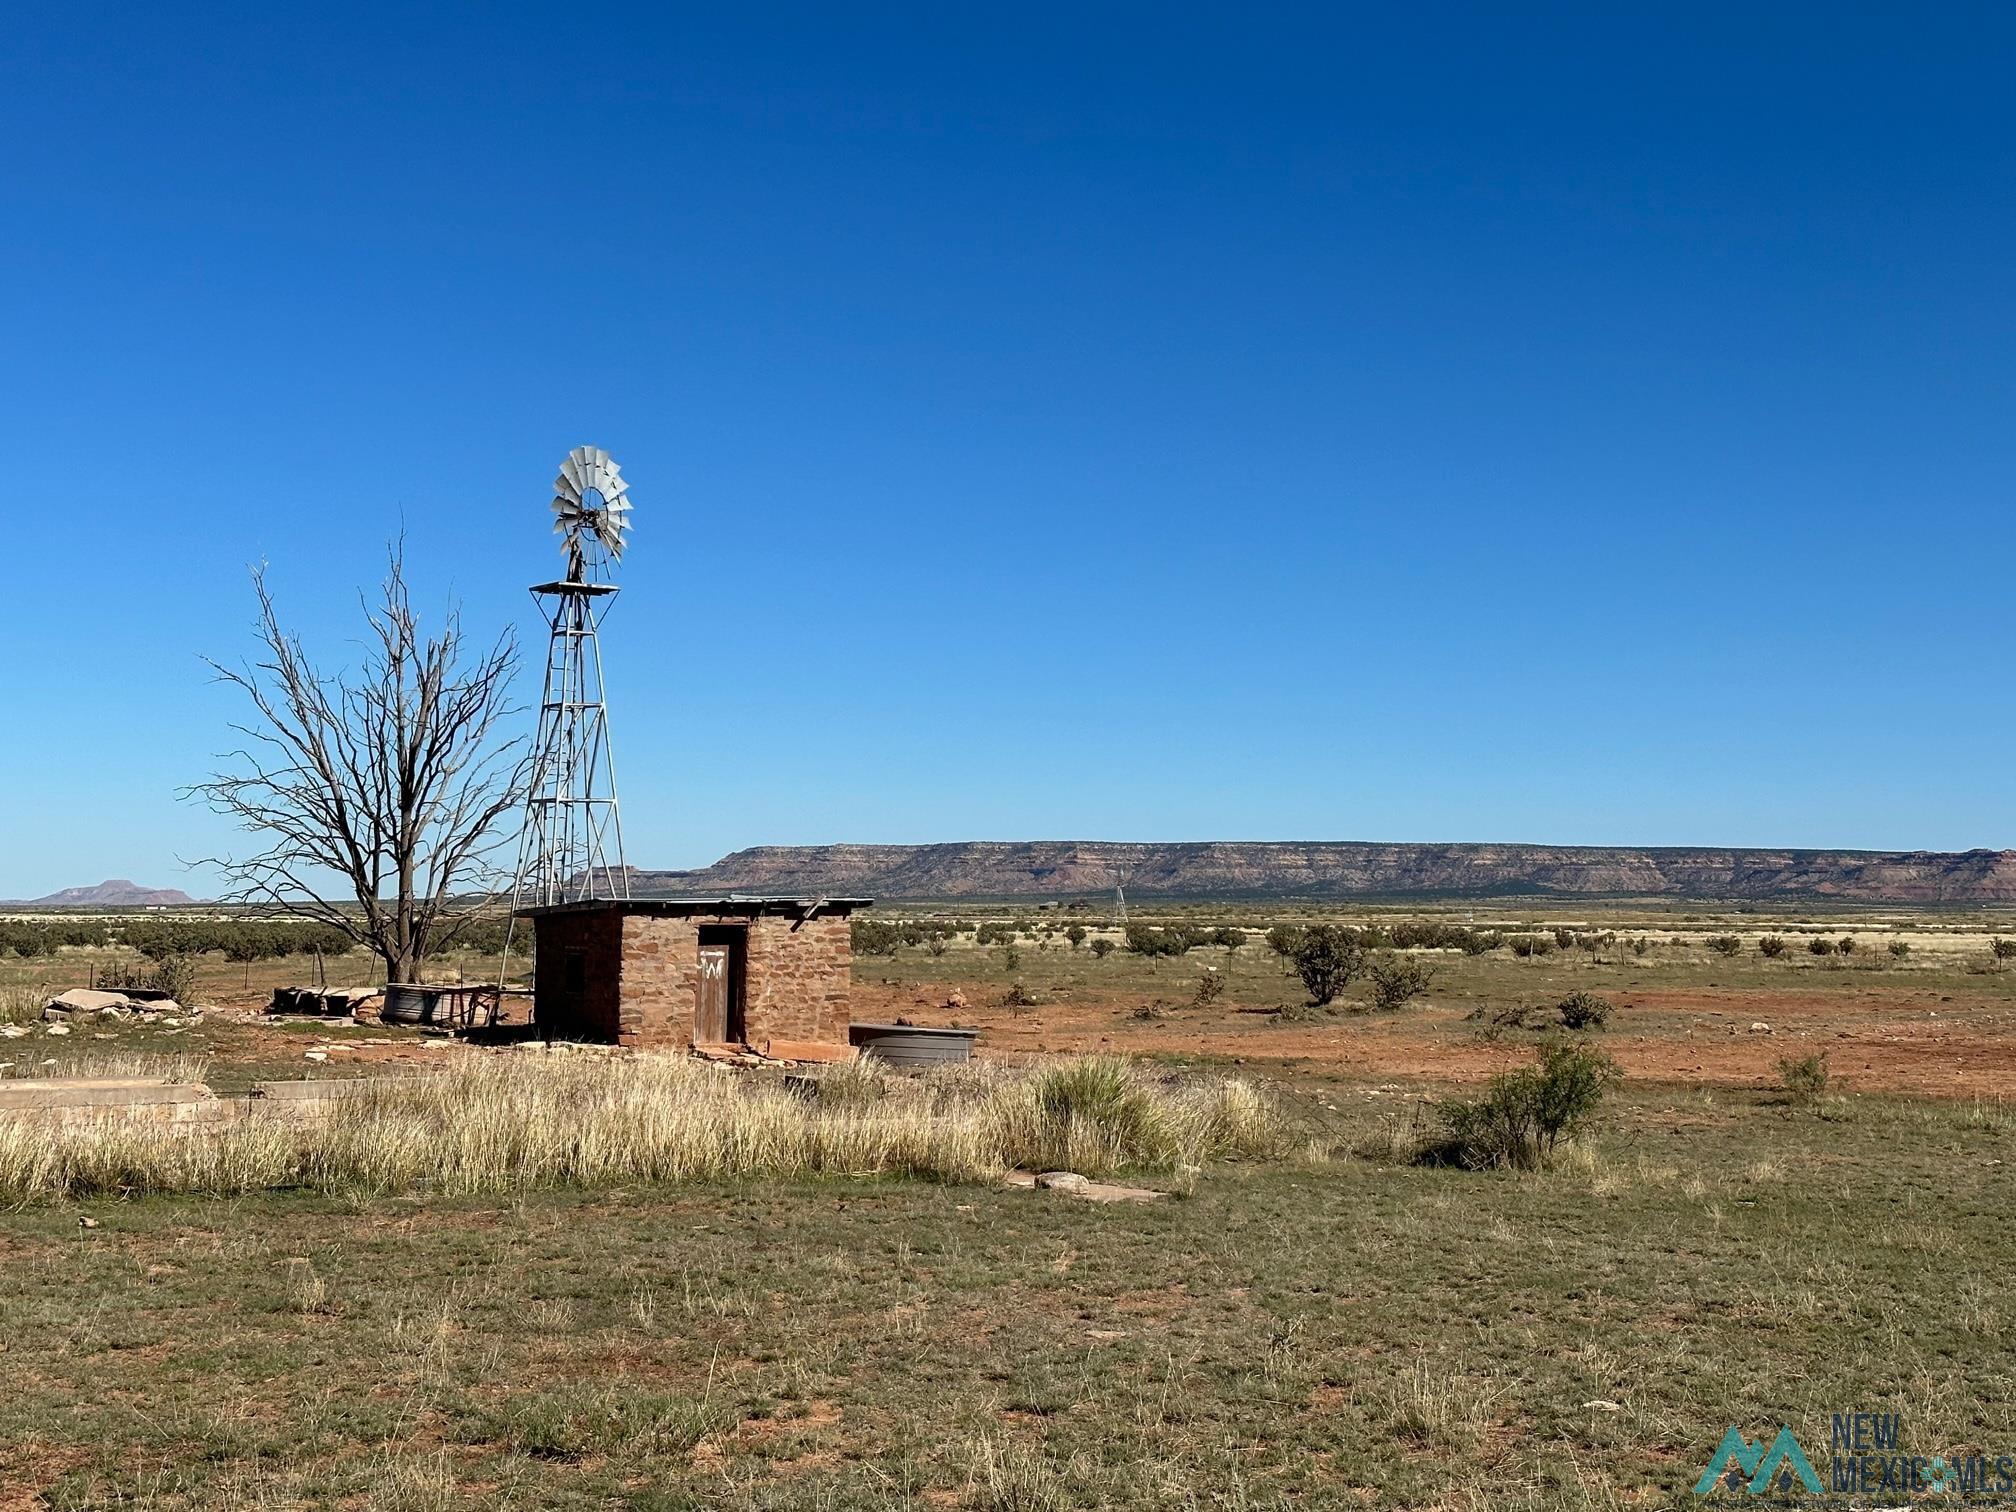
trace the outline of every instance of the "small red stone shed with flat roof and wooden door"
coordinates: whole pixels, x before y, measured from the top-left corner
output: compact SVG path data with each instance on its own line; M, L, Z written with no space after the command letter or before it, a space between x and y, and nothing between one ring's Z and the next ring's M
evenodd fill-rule
M639 1048L734 1044L845 1058L865 897L556 903L532 921L540 1034Z

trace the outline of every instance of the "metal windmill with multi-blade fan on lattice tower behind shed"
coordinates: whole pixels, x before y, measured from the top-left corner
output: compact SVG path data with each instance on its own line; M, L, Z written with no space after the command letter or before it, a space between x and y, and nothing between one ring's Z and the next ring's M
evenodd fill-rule
M552 480L552 532L560 536L566 577L532 589L552 635L546 641L546 691L538 702L532 784L518 833L514 909L629 897L597 639L617 593L615 585L599 579L623 556L631 508L623 498L627 488L615 458L599 446L577 446Z

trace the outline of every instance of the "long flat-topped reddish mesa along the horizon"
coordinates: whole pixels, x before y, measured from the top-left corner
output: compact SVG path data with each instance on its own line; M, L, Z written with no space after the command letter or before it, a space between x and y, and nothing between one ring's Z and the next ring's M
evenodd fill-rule
M1699 897L2016 903L2016 851L1718 851L1363 841L760 845L700 871L637 871L643 897L881 899Z

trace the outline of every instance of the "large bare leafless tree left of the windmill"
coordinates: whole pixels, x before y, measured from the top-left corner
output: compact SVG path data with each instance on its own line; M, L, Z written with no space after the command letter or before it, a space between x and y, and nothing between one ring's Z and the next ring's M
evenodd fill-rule
M492 853L524 798L518 740L500 740L518 647L510 631L470 651L454 607L425 637L405 587L405 548L387 550L363 665L325 675L280 627L266 571L252 573L260 653L212 661L244 689L248 746L190 796L264 837L254 857L214 857L226 897L331 923L385 962L387 982L417 980L496 897ZM347 889L349 901L325 897ZM472 897L474 895L474 897Z

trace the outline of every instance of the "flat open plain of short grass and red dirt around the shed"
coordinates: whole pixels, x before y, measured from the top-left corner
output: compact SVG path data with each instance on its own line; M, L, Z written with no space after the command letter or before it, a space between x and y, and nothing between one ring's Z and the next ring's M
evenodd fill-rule
M1391 911L1615 939L1419 952L1433 982L1383 1012L1363 984L1308 1008L1266 909L1137 911L1248 935L1173 958L1095 956L1103 919L1081 946L1058 913L958 921L1010 917L1008 946L857 958L855 1016L1248 1077L1308 1153L1143 1177L1173 1195L1141 1206L851 1175L24 1204L0 1506L1685 1506L1730 1425L1820 1454L1831 1413L1895 1411L1909 1452L2016 1452L2004 919ZM30 1032L6 1075L496 1054L260 1020L298 962L200 972L200 1026ZM1411 1163L1532 1058L1494 1018L1568 992L1615 1004L1585 1032L1625 1073L1595 1133L1544 1171ZM1794 1101L1778 1062L1812 1052L1829 1091Z

